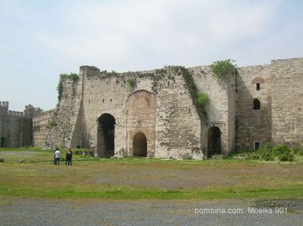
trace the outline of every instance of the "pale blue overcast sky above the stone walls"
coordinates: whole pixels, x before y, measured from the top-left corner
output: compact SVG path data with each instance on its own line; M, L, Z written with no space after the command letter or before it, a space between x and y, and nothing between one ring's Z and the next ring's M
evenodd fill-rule
M303 1L0 0L0 100L57 104L59 74L303 57Z

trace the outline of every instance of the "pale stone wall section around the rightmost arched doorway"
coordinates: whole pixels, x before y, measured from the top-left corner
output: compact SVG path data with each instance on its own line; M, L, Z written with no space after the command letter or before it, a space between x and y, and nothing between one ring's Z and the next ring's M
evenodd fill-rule
M235 136L235 73L228 81L220 81L212 75L209 66L191 67L189 72L199 92L209 95L205 106L207 120L202 123L202 148L207 150L207 132L218 127L221 131L221 153L228 154L234 147Z

